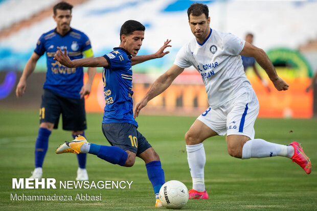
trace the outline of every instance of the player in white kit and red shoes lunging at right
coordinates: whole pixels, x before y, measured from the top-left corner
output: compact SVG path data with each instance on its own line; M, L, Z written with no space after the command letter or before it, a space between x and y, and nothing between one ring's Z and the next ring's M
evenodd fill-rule
M280 145L260 138L254 139L254 123L259 112L259 102L246 79L240 55L254 57L277 90L288 89L288 84L278 77L265 52L233 34L211 29L206 5L192 4L187 13L195 38L179 50L174 64L152 84L144 98L135 105L134 118L149 100L167 89L184 68L194 66L200 73L210 107L198 116L185 134L193 181L189 198L208 199L203 174L206 154L202 142L215 135L227 133L227 148L231 156L241 159L284 156L298 163L309 174L310 160L298 142Z

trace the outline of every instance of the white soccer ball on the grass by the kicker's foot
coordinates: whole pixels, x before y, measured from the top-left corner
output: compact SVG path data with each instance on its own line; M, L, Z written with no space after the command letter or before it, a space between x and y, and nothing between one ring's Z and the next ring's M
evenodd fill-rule
M188 201L188 189L182 182L170 180L161 187L160 200L166 208L180 209Z

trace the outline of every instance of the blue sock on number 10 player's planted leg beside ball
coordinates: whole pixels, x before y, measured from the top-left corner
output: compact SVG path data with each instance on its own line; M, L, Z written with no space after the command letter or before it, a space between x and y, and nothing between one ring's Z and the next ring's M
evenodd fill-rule
M152 183L154 194L160 193L162 185L165 183L164 170L161 166L161 161L151 161L145 165L147 170L147 176Z

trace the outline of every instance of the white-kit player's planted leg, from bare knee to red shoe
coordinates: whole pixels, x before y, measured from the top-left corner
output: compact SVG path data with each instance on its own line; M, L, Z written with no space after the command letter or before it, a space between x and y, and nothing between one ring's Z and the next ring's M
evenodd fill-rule
M189 190L189 199L208 199L203 172L206 154L202 142L214 135L217 133L200 120L196 120L185 134L187 160L193 180L193 188Z

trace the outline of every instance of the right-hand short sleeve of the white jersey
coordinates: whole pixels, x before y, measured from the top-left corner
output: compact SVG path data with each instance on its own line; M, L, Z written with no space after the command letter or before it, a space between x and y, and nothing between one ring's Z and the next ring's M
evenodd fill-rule
M228 33L223 38L224 53L237 56L241 53L244 44L244 40L231 33Z

